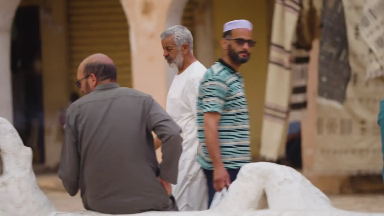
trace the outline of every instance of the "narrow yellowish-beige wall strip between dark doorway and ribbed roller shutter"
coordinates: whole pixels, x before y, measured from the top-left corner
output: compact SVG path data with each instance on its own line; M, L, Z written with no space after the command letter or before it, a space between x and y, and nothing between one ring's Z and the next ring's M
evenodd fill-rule
M63 141L58 112L66 108L70 95L66 0L51 2L51 14L44 13L43 7L40 10L46 166L60 161Z

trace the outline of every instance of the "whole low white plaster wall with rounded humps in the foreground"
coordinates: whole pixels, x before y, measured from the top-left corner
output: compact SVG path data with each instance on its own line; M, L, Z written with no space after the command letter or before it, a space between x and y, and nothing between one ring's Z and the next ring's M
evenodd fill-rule
M15 128L0 117L0 216L108 216L93 211L57 212L40 190L32 169L32 151ZM265 205L267 204L267 206ZM263 208L267 209L263 209ZM263 209L263 210L260 210ZM129 216L384 216L336 209L308 179L287 166L250 163L240 170L227 195L212 210L151 211ZM128 215L126 215L128 216Z

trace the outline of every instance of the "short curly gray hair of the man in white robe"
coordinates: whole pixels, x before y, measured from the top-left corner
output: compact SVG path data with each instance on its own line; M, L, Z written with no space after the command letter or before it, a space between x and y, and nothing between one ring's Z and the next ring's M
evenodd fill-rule
M189 46L189 52L193 54L193 37L192 33L188 30L187 27L182 25L175 25L167 28L160 35L160 39L164 40L165 38L173 36L175 40L175 45L180 49L185 43Z

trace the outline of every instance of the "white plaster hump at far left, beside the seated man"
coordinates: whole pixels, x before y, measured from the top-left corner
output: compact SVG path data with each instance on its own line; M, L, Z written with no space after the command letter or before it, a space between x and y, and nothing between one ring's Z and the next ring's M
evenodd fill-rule
M32 169L32 150L23 145L15 128L0 118L1 216L48 216L56 209L40 190Z

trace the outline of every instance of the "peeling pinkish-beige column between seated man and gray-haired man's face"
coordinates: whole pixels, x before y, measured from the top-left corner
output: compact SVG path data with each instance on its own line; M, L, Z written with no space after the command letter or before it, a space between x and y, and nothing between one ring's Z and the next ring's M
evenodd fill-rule
M172 0L120 0L129 23L132 86L165 108L167 70L160 34Z

